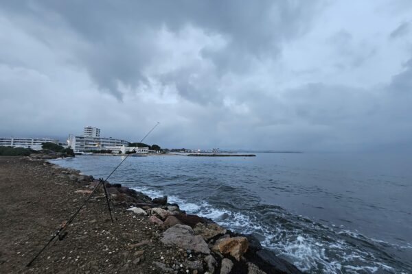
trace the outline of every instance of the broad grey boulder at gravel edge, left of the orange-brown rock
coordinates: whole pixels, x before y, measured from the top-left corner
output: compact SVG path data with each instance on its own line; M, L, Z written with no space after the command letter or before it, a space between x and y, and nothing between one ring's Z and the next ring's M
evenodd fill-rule
M175 245L183 249L192 249L198 253L209 254L210 250L202 236L194 235L192 227L188 225L174 225L163 232L161 242L165 245Z

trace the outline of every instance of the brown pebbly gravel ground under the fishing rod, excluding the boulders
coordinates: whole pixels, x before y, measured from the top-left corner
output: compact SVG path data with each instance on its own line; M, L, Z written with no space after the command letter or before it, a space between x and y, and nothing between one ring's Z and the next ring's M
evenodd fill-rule
M163 273L154 262L189 272L185 261L196 255L165 247L159 241L165 228L120 207L111 223L102 191L80 211L65 239L55 239L27 267L80 207L87 197L76 192L82 189L88 188L43 160L0 157L0 273Z

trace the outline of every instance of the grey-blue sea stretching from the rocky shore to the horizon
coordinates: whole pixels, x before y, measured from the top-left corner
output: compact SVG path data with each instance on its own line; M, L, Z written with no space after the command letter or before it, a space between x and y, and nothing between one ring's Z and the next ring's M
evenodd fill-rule
M53 162L106 177L122 159ZM412 273L411 163L345 153L130 157L109 181L253 233L308 273Z

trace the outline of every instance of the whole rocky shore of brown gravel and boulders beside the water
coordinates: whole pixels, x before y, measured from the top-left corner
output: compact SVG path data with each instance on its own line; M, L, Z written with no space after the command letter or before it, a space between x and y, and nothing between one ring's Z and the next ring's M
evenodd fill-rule
M82 208L65 240L56 241L27 268L27 260L45 245L59 221L68 219L99 181L80 171L30 157L0 158L0 167L2 193L5 188L10 190L10 178L19 177L14 174L18 171L29 179L25 186L17 182L16 188L37 190L32 193L35 203L8 197L9 201L1 204L1 213L12 203L24 203L23 215L33 206L40 206L37 214L43 214L27 218L3 216L2 227L16 229L32 222L14 238L5 237L12 237L15 231L1 229L0 269L5 273L301 273L293 264L264 249L251 235L236 234L210 219L187 214L179 205L168 203L167 197L151 199L108 182L105 184L117 221L110 222L104 192L100 190ZM46 208L36 203L44 203ZM48 221L38 224L38 219Z

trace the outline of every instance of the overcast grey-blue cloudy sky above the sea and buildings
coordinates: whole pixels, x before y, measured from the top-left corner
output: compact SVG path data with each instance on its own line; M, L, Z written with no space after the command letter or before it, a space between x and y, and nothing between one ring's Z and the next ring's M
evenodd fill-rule
M0 136L412 147L412 1L1 1Z

